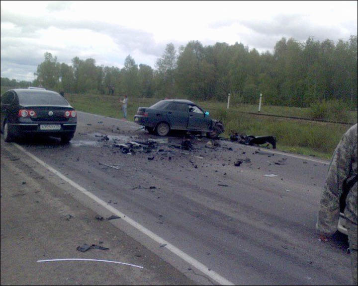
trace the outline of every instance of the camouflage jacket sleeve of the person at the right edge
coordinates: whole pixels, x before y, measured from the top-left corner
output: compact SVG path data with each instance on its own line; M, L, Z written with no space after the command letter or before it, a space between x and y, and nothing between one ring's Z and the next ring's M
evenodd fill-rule
M352 170L355 136L352 131L351 128L336 147L323 188L316 228L325 235L332 235L337 230L342 186Z

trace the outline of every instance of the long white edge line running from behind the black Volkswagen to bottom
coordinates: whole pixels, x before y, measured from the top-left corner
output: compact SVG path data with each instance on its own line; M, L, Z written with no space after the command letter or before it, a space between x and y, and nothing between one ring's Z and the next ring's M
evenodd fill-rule
M160 245L166 244L166 246L164 246L165 248L167 248L172 253L174 253L177 256L179 256L182 260L186 261L187 263L189 263L190 265L192 265L196 269L200 270L207 277L211 278L212 280L216 281L217 283L219 283L221 285L235 285L232 282L230 282L229 280L227 280L226 278L224 278L224 277L220 276L219 274L217 274L215 271L209 270L209 268L207 266L205 266L201 262L197 261L196 259L192 258L191 256L187 255L185 252L181 251L179 248L177 248L176 246L174 246L173 244L171 244L167 240L163 239L159 235L155 234L151 230L147 229L143 225L141 225L138 222L136 222L135 220L131 219L126 214L123 214L123 213L119 212L117 209L113 208L112 206L109 206L106 202L104 202L103 200L101 200L97 196L93 195L92 193L90 193L85 188L81 187L79 184L75 183L71 179L67 178L65 175L63 175L59 171L57 171L54 168L52 168L50 165L46 164L44 161L42 161L41 159L39 159L38 157L36 157L32 153L26 151L20 145L18 145L16 143L12 143L12 144L15 147L17 147L19 150L24 152L26 155L28 155L29 157L34 159L40 165L42 165L43 167L45 167L46 169L48 169L49 171L51 171L52 173L54 173L55 175L57 175L58 177L63 179L65 182L69 183L71 186L73 186L74 188L76 188L77 190L79 190L80 192L85 194L86 196L88 196L90 199L95 201L97 204L99 204L102 207L106 208L108 211L112 212L113 214L115 214L117 216L120 216L127 223L129 223L130 225L132 225L133 227L135 227L136 229L138 229L142 233L146 234L148 237L152 238L154 241L156 241Z

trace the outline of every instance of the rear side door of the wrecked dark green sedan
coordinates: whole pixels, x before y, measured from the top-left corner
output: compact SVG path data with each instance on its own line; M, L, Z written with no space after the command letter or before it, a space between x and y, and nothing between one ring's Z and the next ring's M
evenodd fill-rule
M172 102L167 106L166 111L171 129L186 130L188 124L187 104Z

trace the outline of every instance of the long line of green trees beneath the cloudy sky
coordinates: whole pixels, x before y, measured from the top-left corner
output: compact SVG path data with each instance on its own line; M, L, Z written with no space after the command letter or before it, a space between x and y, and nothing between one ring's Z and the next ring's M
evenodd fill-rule
M32 85L70 93L219 101L230 93L236 103L256 103L262 93L268 105L305 107L335 100L355 109L357 36L337 43L282 38L273 53L262 54L242 43L191 41L178 50L170 43L155 69L138 66L130 55L119 69L97 66L91 58L75 57L67 65L45 53L34 74ZM1 78L1 85L5 80L10 81Z

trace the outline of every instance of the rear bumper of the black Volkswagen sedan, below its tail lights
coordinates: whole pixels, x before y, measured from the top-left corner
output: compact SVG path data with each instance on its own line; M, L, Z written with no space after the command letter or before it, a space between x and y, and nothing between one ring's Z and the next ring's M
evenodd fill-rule
M56 125L60 126L57 130L42 130L42 126ZM61 137L64 135L73 135L76 132L77 123L15 123L9 124L11 132L15 135L39 134L46 136Z

